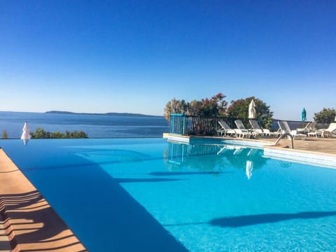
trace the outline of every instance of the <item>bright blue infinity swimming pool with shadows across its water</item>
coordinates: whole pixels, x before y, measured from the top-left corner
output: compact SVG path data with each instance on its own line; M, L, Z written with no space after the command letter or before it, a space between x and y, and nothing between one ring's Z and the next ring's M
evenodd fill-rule
M90 251L335 251L335 169L166 139L0 146Z

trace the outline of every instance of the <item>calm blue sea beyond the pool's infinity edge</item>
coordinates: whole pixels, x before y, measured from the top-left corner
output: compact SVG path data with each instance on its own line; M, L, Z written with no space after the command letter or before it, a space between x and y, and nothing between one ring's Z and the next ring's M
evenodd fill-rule
M76 113L31 113L0 111L0 138L20 139L27 121L31 132L83 131L89 138L162 137L169 123L162 116L108 116Z

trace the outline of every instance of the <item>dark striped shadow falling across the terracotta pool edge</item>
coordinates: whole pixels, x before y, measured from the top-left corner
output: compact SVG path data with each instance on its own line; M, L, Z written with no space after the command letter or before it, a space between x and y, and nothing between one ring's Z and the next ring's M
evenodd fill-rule
M40 193L0 195L0 250L87 251Z

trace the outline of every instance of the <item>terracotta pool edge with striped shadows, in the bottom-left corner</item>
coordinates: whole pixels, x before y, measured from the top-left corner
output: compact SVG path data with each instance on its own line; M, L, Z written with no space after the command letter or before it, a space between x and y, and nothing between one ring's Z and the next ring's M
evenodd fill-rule
M1 251L88 251L1 148L0 164Z

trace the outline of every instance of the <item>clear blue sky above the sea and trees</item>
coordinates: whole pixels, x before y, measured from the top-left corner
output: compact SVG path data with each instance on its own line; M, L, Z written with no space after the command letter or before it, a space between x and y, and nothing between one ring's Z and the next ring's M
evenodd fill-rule
M336 107L336 1L0 1L0 111L162 115L255 96Z

